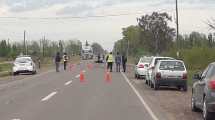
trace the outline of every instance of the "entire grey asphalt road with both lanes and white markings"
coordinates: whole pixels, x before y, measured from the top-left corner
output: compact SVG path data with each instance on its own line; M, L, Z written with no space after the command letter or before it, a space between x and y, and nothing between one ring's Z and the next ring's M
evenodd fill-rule
M1 84L0 120L165 120L123 73L107 82L103 64L87 63Z

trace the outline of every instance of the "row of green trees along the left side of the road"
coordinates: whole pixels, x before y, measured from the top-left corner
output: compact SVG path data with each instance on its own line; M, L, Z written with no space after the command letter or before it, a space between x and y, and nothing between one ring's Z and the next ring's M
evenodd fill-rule
M26 46L23 42L0 41L0 57L14 59L20 54L27 54L35 57L53 57L56 52L67 52L68 55L79 55L82 43L79 40L35 40L28 41Z

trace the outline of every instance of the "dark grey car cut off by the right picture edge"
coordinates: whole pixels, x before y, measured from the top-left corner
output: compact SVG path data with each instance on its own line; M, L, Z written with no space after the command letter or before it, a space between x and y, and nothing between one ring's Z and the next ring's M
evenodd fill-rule
M202 74L195 74L192 87L192 110L202 110L204 120L215 119L215 63Z

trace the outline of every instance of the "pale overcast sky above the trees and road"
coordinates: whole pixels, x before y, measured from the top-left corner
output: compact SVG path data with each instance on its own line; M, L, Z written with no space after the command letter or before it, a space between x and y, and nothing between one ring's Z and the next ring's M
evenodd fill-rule
M181 34L212 32L206 22L215 18L215 0L178 4ZM122 28L137 25L137 17L153 11L169 13L170 26L176 27L175 0L0 0L0 39L22 41L26 30L27 40L44 35L50 40L88 40L111 50L122 38Z

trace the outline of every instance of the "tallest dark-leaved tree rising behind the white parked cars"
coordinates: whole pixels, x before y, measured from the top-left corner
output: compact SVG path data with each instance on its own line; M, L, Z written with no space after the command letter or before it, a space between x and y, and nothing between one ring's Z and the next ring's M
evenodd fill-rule
M143 31L143 37L152 53L160 54L167 50L173 42L175 29L168 26L172 18L167 13L153 12L151 15L144 15L138 18L138 24Z

